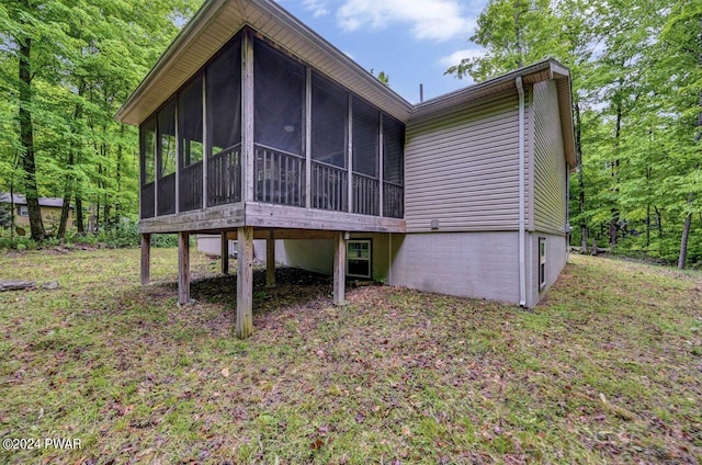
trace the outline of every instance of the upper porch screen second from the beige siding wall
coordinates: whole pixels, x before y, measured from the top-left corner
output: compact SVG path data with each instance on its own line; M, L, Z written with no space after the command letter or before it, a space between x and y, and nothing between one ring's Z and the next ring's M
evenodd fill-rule
M377 177L380 113L361 99L353 99L353 171Z

